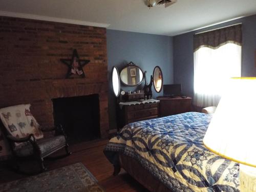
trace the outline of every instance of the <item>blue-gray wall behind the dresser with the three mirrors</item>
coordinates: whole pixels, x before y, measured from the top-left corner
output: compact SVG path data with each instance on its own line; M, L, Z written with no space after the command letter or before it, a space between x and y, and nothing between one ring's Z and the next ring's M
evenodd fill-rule
M109 114L110 129L116 129L116 98L111 87L111 70L117 66L121 70L128 62L133 61L143 71L147 71L147 80L153 74L155 66L163 71L164 84L173 83L173 37L106 30L108 71L109 71ZM142 85L143 86L143 85ZM140 89L142 89L142 86ZM121 89L134 91L134 87ZM152 87L153 98L157 94Z

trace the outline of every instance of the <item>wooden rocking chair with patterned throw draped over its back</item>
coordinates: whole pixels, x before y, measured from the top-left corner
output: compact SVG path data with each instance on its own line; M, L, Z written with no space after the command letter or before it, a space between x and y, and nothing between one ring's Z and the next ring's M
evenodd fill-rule
M0 118L5 126L6 137L11 145L15 160L34 158L40 163L41 171L46 170L44 158L66 148L69 144L61 125L43 130L30 112L30 104L21 104L0 109ZM45 138L44 132L54 131L54 137Z

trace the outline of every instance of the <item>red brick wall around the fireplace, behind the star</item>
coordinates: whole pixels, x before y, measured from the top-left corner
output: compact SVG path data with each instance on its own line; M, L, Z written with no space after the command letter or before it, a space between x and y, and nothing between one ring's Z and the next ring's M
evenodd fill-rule
M77 49L86 78L65 79ZM109 130L106 29L0 17L0 108L31 103L41 125L53 125L52 98L99 94L101 137Z

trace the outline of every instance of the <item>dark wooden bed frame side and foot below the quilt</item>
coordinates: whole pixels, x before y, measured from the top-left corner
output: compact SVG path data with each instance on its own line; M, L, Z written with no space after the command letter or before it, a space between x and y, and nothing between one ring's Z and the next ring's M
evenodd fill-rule
M141 166L141 164L126 155L119 154L120 166L115 166L114 174L118 175L120 168L123 168L129 175L136 179L140 184L152 192L172 192L163 183L157 180L148 170Z

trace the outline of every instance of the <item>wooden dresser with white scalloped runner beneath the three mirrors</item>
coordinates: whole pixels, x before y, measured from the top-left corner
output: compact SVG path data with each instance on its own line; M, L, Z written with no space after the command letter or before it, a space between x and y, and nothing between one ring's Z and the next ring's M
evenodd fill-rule
M159 100L121 102L118 109L118 127L120 129L128 123L157 118L158 115Z

